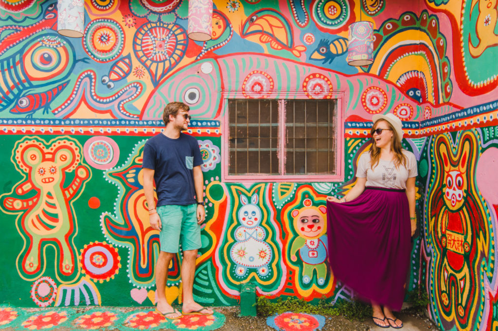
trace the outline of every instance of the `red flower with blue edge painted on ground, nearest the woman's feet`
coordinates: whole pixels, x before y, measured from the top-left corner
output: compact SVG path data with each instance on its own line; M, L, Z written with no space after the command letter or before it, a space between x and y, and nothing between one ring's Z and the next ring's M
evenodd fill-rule
M315 331L325 325L325 318L320 315L308 315L303 313L283 313L268 317L266 324L276 330L286 331Z

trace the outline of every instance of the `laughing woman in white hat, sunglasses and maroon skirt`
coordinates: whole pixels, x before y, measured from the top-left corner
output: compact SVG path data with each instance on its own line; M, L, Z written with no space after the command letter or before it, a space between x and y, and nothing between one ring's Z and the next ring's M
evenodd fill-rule
M401 148L401 120L373 115L372 148L358 161L355 186L327 197L330 265L335 277L372 302L373 323L403 327L399 311L415 233L413 153Z

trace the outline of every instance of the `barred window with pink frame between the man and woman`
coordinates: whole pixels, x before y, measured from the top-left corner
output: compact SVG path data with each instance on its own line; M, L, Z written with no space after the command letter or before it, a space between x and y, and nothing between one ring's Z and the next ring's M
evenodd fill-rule
M337 99L227 101L227 179L338 174Z

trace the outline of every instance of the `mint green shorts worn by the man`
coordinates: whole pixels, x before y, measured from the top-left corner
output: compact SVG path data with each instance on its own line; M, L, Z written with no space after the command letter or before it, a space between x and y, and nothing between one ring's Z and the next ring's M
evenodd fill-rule
M161 251L177 253L180 244L182 250L201 248L201 226L197 224L197 204L159 206L157 214L161 218L162 225L159 232Z

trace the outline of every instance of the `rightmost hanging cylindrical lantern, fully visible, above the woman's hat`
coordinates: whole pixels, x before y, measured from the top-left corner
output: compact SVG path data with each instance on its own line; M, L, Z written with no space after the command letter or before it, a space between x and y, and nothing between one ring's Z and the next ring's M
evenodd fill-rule
M360 21L349 26L348 64L369 66L373 63L373 24Z

